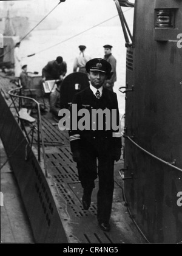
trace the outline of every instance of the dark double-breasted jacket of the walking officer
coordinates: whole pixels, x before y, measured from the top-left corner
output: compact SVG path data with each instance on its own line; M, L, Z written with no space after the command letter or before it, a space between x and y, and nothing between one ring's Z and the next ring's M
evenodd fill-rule
M112 109L116 109L116 125L120 125L119 111L118 111L118 101L115 92L111 92L105 88L103 88L103 94L101 99L96 99L90 87L84 89L81 92L78 92L73 99L73 104L77 105L77 111L79 109L86 108L90 112L90 130L71 130L70 131L70 146L72 151L79 148L79 140L96 140L98 137L103 137L103 139L111 138L112 147L116 149L121 148L121 134L117 131L112 130L112 123L110 122L110 130L108 130L106 121L107 117L104 117L103 120L103 130L98 130L98 122L100 120L97 119L97 128L92 129L93 122L95 122L94 118L92 118L92 109L109 109L110 110L110 121L112 120ZM78 121L81 119L79 117ZM113 133L116 137L113 137ZM112 149L111 149L112 150Z

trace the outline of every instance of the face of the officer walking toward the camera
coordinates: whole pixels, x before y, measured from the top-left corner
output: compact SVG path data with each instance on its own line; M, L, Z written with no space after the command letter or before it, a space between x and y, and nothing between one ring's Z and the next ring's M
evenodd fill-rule
M96 89L100 88L106 80L106 73L99 71L90 71L88 74L91 85Z

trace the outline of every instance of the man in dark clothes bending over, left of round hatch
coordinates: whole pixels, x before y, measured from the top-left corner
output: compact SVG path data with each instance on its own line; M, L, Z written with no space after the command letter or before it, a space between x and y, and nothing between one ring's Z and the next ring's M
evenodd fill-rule
M42 69L42 80L62 80L67 72L67 64L61 56L49 61Z

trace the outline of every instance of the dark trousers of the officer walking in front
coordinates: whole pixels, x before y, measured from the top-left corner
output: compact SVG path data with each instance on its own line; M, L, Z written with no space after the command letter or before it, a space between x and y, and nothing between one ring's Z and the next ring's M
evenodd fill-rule
M98 176L97 218L99 223L109 222L114 189L112 137L81 137L81 161L77 162L79 181L84 190L95 187Z

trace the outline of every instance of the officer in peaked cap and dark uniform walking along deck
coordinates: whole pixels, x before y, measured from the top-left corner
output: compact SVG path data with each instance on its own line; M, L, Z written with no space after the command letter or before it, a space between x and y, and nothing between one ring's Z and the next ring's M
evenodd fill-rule
M78 126L76 126L78 128L73 130L72 126L70 130L70 147L73 161L77 162L78 177L83 187L83 208L88 210L90 207L92 190L95 187L94 181L98 176L98 224L102 230L109 231L114 189L113 167L114 161L118 161L121 156L121 133L117 128L114 130L113 125L110 125L110 128L107 125L115 116L115 120L120 126L118 101L115 92L103 87L111 71L111 66L106 60L94 58L88 61L86 71L90 86L75 94L72 111L75 111L73 108L76 108L76 111L83 108L86 111L87 109L90 113L90 127L85 129L79 127L81 121L81 117L79 117ZM103 113L106 111L107 114L99 117L98 112L95 112L98 109ZM107 115L110 116L109 120ZM99 125L103 127L100 128Z

